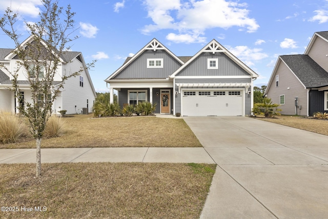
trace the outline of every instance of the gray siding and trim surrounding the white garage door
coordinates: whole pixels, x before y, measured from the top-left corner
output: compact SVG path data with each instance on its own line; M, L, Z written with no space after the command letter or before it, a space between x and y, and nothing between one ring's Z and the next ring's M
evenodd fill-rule
M175 79L175 84L179 83L252 83L252 78L176 78ZM178 86L175 86L175 91L178 91ZM227 90L231 88L240 88L240 90L244 90L245 87L215 87L218 89L224 89L227 88ZM187 89L186 87L182 87L182 89ZM197 87L193 87L193 89L197 89ZM201 87L199 89L206 90L206 88ZM212 87L209 87L209 89L212 89ZM248 91L250 91L251 87L249 88ZM244 99L245 99L245 115L251 115L251 104L252 104L252 98L250 94L247 94L247 92L243 94ZM175 113L181 112L181 94L176 94L175 95Z

